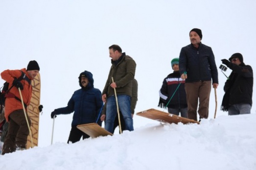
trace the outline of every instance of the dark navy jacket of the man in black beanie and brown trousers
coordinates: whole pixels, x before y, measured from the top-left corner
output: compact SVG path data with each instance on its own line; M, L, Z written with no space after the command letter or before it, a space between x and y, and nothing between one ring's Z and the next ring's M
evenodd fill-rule
M188 82L209 81L218 83L218 71L211 48L200 43L199 48L192 44L181 49L179 58L180 73L186 72Z

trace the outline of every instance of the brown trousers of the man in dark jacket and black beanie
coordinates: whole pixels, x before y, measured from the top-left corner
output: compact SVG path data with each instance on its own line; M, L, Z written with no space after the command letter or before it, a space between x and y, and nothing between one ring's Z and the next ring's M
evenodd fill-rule
M211 90L211 81L197 81L185 83L187 117L197 121L197 106L199 98L198 114L200 118L208 118L209 98Z

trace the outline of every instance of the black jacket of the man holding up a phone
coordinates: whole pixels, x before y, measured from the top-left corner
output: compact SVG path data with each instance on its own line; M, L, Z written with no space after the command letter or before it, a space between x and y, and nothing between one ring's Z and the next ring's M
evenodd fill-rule
M253 96L253 69L250 65L230 63L228 67L233 70L224 86L224 97L221 109L228 111L233 104L245 103L252 106Z

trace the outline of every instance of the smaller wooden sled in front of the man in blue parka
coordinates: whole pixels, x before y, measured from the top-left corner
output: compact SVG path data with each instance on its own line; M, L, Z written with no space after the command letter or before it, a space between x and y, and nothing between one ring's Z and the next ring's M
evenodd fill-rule
M76 126L82 132L85 132L92 138L99 137L99 136L107 136L113 135L111 132L106 131L104 128L100 127L97 123L88 123L83 125Z

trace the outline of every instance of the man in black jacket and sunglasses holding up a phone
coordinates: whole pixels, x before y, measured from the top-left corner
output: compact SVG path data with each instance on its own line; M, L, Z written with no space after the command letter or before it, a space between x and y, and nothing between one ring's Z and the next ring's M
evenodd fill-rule
M232 70L224 86L221 109L228 111L229 115L250 114L254 82L252 67L244 64L240 53L221 61Z

